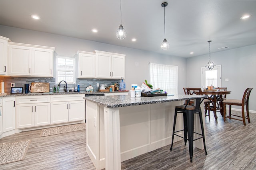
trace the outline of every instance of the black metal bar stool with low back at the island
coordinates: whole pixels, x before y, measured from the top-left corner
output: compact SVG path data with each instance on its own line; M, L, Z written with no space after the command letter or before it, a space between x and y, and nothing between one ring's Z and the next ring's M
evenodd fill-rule
M190 100L196 101L196 105L195 106L189 105ZM189 100L187 100L186 105L175 107L174 124L173 124L173 131L172 131L172 145L173 145L174 135L176 135L178 137L181 137L180 135L177 135L175 133L180 132L180 131L184 131L184 137L181 137L181 138L184 139L185 145L188 141L190 162L192 162L192 158L193 158L193 142L198 140L198 139L201 139L201 138L203 139L204 151L205 151L205 154L207 155L206 146L205 146L205 137L204 137L204 126L203 126L203 120L202 120L202 111L201 111L201 107L200 107L200 104L203 101L204 101L204 97L202 97L202 98L190 98ZM175 131L177 113L183 113L184 129L180 130L180 131ZM202 134L194 132L194 114L195 113L199 114ZM199 137L197 139L194 139L194 133L196 133L198 135L201 135L201 137ZM171 145L170 150L172 150L172 145Z

